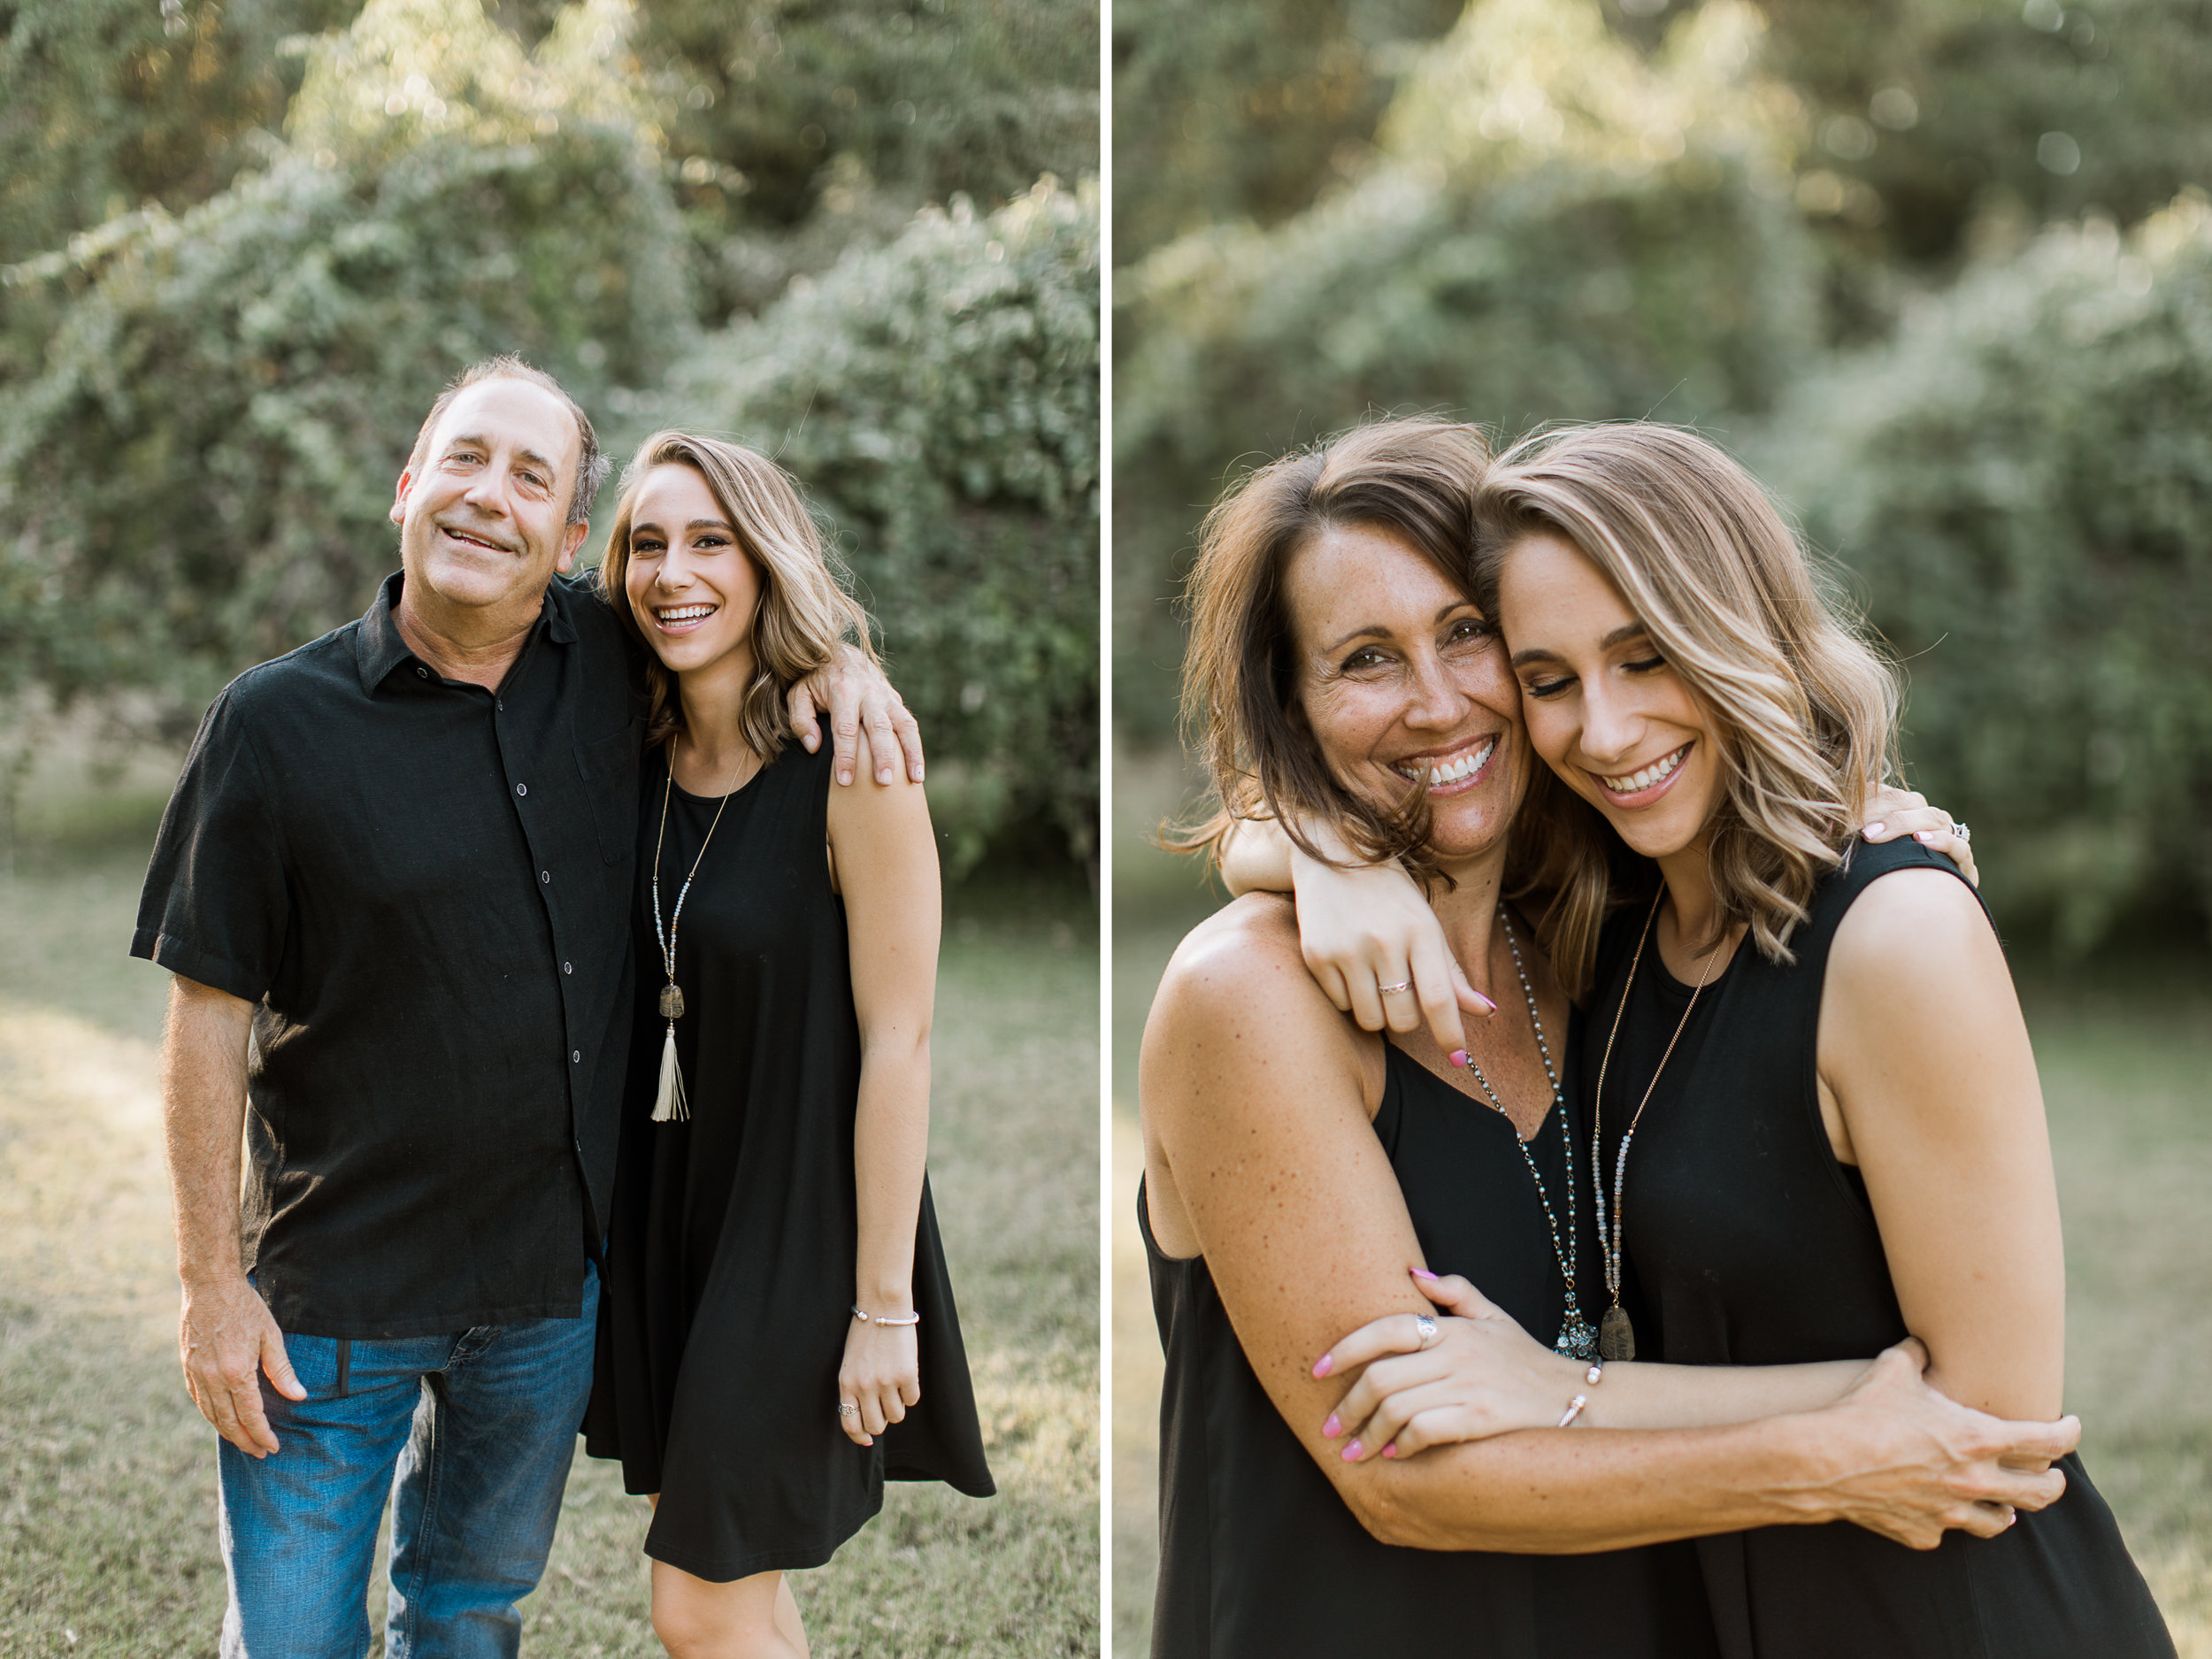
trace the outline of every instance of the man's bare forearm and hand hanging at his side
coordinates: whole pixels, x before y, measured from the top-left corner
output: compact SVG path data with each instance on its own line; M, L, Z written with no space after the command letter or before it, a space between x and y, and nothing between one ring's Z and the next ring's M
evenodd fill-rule
M161 1035L161 1130L177 1208L177 1279L184 1314L177 1352L192 1405L252 1458L276 1451L261 1411L259 1371L288 1400L307 1389L292 1376L283 1332L239 1261L239 1150L246 1133L246 1046L254 1004L181 973L168 987Z

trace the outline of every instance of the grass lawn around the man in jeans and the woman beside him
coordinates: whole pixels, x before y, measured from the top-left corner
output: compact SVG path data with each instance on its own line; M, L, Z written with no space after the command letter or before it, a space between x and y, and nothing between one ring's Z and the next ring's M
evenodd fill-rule
M0 1659L212 1655L223 1613L215 1442L175 1358L166 975L124 958L146 803L128 779L46 803L0 874ZM823 1659L1099 1652L1095 947L1082 896L953 900L931 1183L1000 1495L894 1484L794 1575ZM657 1655L644 1531L577 1455L524 1650Z

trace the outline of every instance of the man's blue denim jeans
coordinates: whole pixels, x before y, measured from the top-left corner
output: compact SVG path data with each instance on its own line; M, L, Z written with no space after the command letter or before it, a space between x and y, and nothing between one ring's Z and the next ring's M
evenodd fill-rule
M285 1336L307 1389L261 1405L281 1451L219 1447L223 1659L361 1659L392 1495L387 1659L511 1659L591 1396L599 1276L582 1318L458 1336Z

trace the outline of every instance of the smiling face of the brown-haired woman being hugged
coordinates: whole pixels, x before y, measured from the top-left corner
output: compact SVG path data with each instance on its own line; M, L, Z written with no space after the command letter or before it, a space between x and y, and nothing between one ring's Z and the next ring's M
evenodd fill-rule
M1429 847L1495 847L1528 779L1498 630L1396 531L1321 531L1285 573L1298 701L1329 772L1385 810L1427 785Z

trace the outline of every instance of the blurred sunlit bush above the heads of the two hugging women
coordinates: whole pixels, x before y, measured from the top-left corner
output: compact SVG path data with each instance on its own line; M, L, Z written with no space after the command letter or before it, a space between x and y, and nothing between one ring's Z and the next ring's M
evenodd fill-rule
M1774 400L1818 323L1756 38L1754 11L1714 0L1646 60L1595 0L1480 0L1407 77L1356 184L1124 272L1124 719L1166 730L1179 641L1155 595L1237 456L1371 409L1517 431Z

